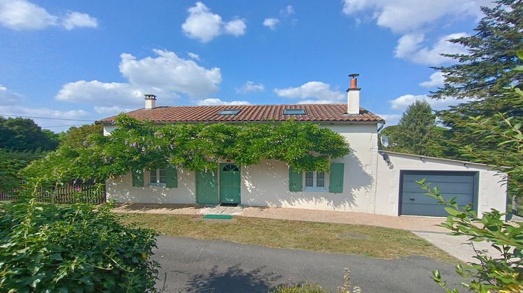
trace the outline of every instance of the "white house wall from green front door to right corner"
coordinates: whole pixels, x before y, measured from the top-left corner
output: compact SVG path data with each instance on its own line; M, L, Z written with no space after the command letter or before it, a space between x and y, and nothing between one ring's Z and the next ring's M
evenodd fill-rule
M291 192L288 186L289 167L280 161L266 160L242 168L241 203L374 213L377 124L324 124L322 127L343 135L352 149L344 158L333 160L344 163L342 193L328 193L328 183L325 192Z

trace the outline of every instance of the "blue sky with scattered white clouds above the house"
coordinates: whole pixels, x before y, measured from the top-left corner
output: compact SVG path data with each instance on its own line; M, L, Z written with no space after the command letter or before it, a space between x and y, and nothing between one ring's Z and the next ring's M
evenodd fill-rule
M0 0L0 114L95 120L158 105L346 103L397 121L487 0ZM431 101L436 109L457 103ZM54 131L82 121L35 119ZM61 127L56 127L61 126Z

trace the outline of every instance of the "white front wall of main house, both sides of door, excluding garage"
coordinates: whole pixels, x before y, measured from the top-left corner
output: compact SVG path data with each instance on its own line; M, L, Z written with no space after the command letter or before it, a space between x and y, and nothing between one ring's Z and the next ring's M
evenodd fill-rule
M109 126L112 127L112 126ZM289 167L265 160L241 167L241 203L252 206L285 206L300 209L374 212L377 174L377 124L324 124L347 138L351 153L334 160L344 163L343 193L289 192ZM114 128L107 128L109 134ZM107 135L106 134L106 135ZM183 174L181 174L183 173ZM145 178L149 178L146 172ZM107 181L107 198L116 202L195 203L195 173L179 170L179 188L132 187L130 174ZM328 186L328 185L327 185Z

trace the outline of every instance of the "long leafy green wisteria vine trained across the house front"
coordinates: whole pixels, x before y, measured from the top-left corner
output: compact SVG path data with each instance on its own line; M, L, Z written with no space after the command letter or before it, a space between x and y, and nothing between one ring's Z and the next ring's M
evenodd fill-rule
M328 171L331 158L349 153L344 137L313 123L169 123L154 125L125 115L108 137L91 135L84 147L63 144L24 170L30 183L75 179L104 181L130 170L174 165L185 170L215 169L219 160L253 165L281 160L298 171ZM38 183L40 182L40 183Z

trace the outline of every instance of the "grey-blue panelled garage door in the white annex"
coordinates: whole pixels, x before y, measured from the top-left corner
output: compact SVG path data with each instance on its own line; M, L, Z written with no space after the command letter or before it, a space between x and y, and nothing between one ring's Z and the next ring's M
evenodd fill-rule
M460 206L474 204L476 172L402 171L400 186L401 215L447 216L444 207L425 195L416 181L426 179L431 188L437 186L446 200L457 197Z

